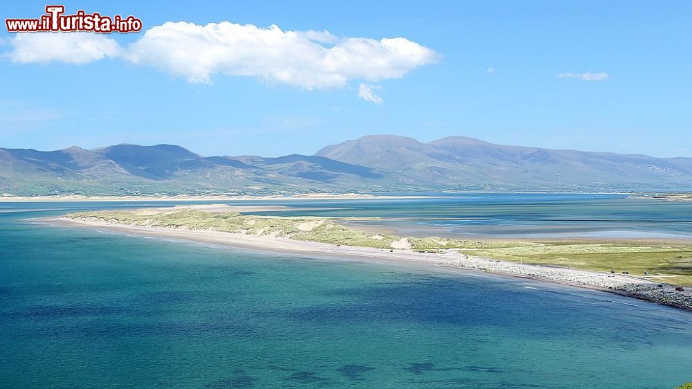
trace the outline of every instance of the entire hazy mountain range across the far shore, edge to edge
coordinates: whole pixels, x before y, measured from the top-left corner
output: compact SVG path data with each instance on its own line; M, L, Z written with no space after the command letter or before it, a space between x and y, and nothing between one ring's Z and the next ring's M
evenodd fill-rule
M692 158L364 136L315 155L201 156L175 145L0 148L0 193L221 194L408 190L689 190Z

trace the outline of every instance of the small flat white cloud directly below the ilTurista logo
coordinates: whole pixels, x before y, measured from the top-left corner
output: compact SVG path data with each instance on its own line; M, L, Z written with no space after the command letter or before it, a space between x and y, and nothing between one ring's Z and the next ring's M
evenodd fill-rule
M6 53L12 62L66 62L86 64L115 57L120 46L114 39L94 33L17 33Z

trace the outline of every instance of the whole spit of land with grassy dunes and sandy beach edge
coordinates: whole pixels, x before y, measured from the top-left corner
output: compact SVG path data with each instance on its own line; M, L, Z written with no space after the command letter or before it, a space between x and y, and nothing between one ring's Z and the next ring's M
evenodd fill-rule
M686 269L692 256L692 244L484 242L441 237L399 237L365 232L340 224L355 218L246 215L234 209L224 205L175 206L76 212L44 220L264 251L493 271L600 289L692 310L692 293L671 284L692 284L691 275L685 271L675 271ZM617 260L623 257L630 260ZM680 266L668 266L670 263L666 258L671 257L680 260ZM614 264L620 265L617 270L612 269Z

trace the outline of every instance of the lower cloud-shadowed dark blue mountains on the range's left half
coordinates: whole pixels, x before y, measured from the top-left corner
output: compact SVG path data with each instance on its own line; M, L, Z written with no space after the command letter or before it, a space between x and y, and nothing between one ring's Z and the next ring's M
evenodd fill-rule
M200 194L406 188L398 174L321 156L200 156L174 145L0 149L0 193Z

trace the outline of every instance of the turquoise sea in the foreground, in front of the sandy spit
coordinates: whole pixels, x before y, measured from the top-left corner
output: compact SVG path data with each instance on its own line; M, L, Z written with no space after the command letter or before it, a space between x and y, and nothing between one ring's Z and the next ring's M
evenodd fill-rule
M396 201L327 203L352 209L313 212L406 213ZM0 206L3 388L673 388L692 380L689 312L482 273L24 221L140 204ZM434 215L434 201L412 208L419 212Z

